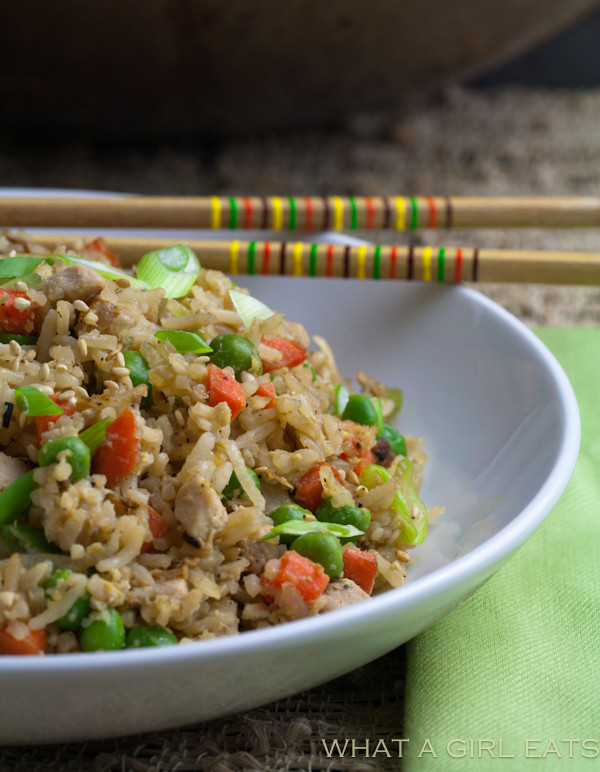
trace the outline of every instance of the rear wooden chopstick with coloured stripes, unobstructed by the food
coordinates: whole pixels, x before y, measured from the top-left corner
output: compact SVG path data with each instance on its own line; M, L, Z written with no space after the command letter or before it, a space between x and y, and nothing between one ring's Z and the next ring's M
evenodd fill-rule
M353 231L600 225L596 197L0 197L0 227Z

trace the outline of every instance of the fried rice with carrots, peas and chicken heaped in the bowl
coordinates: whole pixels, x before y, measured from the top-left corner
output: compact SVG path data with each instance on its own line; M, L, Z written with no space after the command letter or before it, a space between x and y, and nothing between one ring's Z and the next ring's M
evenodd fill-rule
M0 251L49 254L9 236ZM116 262L102 240L52 254L99 268ZM344 418L336 395L352 389L327 342L279 310L248 322L233 288L227 275L200 269L184 297L165 297L161 287L140 289L125 275L62 259L0 284L0 502L30 481L16 510L2 512L0 503L1 653L146 645L140 630L164 631L163 642L198 641L330 612L404 582L408 550L435 514L418 498L421 441L407 437L405 452L393 452L381 424ZM181 349L160 331L198 333L209 350ZM210 347L223 335L249 340L258 365L217 367ZM281 340L302 352L300 361L289 360ZM146 383L133 377L128 352L143 358ZM211 382L217 371L222 393ZM357 390L392 421L397 392L356 377ZM28 410L19 399L28 386L60 414ZM123 425L129 434L116 431ZM63 447L54 441L91 427L106 434L83 476L67 445L40 463L48 447ZM309 478L314 506L301 495ZM334 513L366 511L367 527L352 538L321 528L323 501ZM303 527L337 534L338 575L296 552L297 533L275 533L270 513L290 504L303 505ZM418 538L407 538L407 507L420 518ZM372 581L353 572L357 556L348 552L373 567ZM82 645L85 631L109 625L111 614L122 621L117 643Z

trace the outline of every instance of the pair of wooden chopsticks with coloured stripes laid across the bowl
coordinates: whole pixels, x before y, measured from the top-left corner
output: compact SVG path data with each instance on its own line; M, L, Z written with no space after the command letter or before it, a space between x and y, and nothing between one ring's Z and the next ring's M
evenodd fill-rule
M294 233L311 231L415 231L422 228L594 227L594 197L153 197L0 198L6 227L207 228ZM75 247L83 236L31 234L49 249ZM173 239L111 237L109 249L125 266ZM202 264L233 275L404 279L440 283L516 282L600 284L600 254L536 250L347 246L293 240L186 239Z

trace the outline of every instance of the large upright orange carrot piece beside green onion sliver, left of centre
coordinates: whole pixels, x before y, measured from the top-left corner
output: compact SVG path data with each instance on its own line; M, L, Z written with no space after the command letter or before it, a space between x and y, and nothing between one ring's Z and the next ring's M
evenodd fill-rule
M131 474L140 456L140 436L131 408L106 427L104 442L92 459L92 472L103 474L109 487Z

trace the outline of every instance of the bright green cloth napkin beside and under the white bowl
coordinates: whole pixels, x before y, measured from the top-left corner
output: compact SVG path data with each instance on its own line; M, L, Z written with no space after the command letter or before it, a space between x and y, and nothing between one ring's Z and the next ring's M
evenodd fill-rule
M600 329L537 333L575 390L580 455L519 552L408 644L407 772L600 767Z

